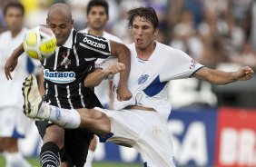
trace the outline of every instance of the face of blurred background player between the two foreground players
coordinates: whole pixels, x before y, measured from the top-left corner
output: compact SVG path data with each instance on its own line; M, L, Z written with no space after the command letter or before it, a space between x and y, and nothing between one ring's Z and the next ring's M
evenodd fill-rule
M87 15L87 24L96 31L103 31L108 16L101 5L95 5Z

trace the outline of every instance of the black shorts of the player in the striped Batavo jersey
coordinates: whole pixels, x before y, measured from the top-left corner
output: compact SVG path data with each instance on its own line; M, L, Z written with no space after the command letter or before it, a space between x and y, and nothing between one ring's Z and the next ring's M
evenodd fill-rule
M48 121L35 122L40 136L44 137L45 129L52 123ZM64 148L61 160L67 162L68 166L84 167L88 149L94 133L86 129L65 129Z

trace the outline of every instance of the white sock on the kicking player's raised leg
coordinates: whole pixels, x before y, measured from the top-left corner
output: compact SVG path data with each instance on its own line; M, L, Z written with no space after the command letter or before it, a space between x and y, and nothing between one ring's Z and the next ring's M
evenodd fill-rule
M56 123L67 129L76 129L79 127L81 123L81 117L76 110L63 109L52 105L48 106L50 113L48 115L48 118L44 115L44 119Z

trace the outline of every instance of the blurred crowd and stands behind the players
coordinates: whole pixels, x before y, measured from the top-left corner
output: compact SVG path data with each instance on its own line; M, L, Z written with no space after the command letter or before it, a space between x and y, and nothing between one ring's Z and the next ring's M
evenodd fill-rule
M72 7L74 27L86 27L89 0L20 0L25 5L25 26L45 24L47 9L54 3ZM2 7L8 0L0 0ZM254 0L108 0L110 19L106 30L124 44L132 43L126 12L134 6L151 5L160 20L158 41L181 49L211 68L225 70L249 65L256 70L256 1ZM1 12L1 32L5 22ZM161 64L159 64L161 65ZM255 77L254 77L255 78ZM255 108L256 80L212 86L196 79L170 84L174 108L230 105ZM174 97L174 98L173 98Z

